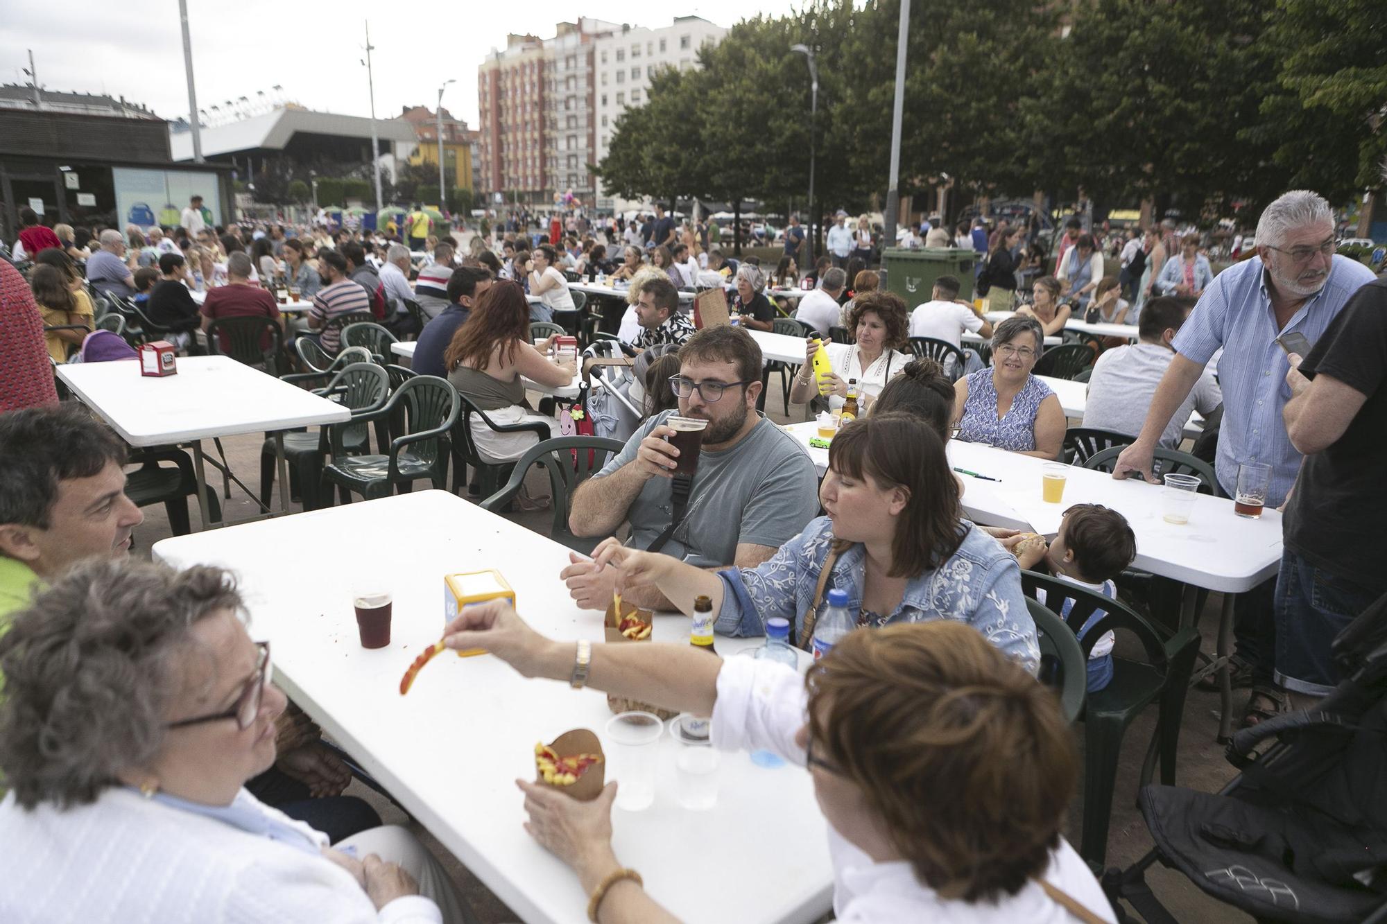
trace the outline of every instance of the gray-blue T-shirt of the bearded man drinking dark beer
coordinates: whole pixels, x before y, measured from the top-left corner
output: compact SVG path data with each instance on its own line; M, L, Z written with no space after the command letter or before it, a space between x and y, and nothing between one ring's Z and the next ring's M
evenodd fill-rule
M641 425L596 477L634 461L641 440L674 413L666 411ZM670 479L645 483L627 512L628 545L649 548L670 524ZM732 448L699 454L688 512L660 551L699 567L731 565L738 542L779 548L816 516L818 476L809 452L763 416Z

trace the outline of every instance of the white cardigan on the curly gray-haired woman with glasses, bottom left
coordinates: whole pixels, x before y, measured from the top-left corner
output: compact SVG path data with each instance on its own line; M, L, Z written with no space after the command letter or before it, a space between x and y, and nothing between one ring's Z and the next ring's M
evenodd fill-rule
M326 844L244 789L265 814ZM320 856L223 821L107 789L83 806L0 803L0 921L6 924L438 924L411 895L379 913L352 875Z

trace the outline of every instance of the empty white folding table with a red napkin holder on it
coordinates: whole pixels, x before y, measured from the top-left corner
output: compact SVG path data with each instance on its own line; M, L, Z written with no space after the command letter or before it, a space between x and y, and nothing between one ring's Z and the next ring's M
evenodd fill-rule
M79 362L61 365L57 372L72 394L101 415L130 445L191 445L204 529L214 523L207 506L203 440L272 433L280 508L287 512L288 470L283 431L351 419L348 408L230 357L183 357L178 361L178 375L165 377L141 376L139 359ZM259 502L254 493L247 493Z

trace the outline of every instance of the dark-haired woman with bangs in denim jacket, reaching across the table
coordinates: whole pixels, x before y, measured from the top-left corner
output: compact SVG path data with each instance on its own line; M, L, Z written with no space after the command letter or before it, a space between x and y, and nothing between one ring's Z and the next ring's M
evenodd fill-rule
M1015 558L961 519L943 443L927 425L886 413L845 426L829 445L820 499L828 516L756 567L706 572L616 540L599 545L595 561L617 566L621 587L657 585L685 613L710 597L727 635L760 635L767 619L782 616L807 641L806 616L839 588L859 626L964 622L1036 671L1040 651Z

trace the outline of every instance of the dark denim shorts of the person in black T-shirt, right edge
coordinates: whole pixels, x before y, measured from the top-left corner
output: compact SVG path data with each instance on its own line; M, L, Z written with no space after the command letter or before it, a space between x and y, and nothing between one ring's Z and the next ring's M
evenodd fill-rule
M1276 576L1276 683L1312 696L1333 691L1340 677L1330 645L1380 595L1284 549Z

